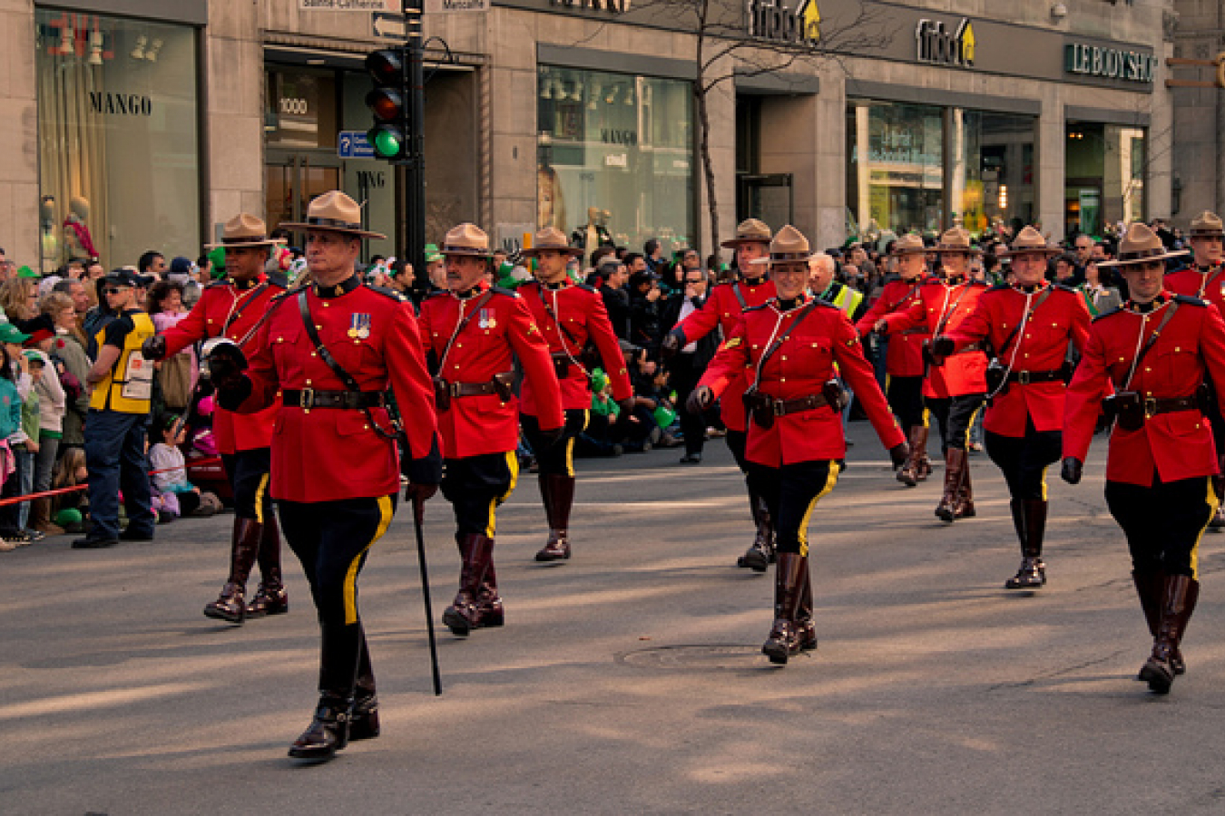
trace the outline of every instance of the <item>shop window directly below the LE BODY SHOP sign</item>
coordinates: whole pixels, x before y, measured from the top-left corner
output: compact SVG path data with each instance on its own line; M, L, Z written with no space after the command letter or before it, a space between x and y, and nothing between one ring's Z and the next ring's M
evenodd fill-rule
M1106 226L1145 218L1144 128L1069 120L1066 146L1069 235L1100 236Z

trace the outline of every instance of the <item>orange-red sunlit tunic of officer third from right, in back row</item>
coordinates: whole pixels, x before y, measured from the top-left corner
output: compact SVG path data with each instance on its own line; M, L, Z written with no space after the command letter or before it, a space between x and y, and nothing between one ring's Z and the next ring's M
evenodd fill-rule
M886 314L889 338L921 325L932 334L956 332L970 316L987 285L969 280L949 286L940 278L929 278L920 289L921 300L907 311ZM892 341L891 344L892 345ZM924 396L948 398L982 394L987 390L987 356L981 351L963 351L944 360L943 366L932 366L922 384Z

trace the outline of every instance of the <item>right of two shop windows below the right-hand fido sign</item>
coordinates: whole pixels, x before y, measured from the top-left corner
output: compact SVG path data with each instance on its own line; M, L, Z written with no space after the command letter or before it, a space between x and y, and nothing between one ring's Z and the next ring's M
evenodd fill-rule
M952 111L952 212L970 232L1034 223L1034 117Z

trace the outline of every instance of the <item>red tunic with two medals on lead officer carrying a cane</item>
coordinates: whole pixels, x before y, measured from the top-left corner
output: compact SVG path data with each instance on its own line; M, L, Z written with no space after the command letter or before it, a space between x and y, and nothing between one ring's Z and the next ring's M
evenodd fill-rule
M282 389L348 390L315 351L298 297L273 303L247 368L251 394L239 406L244 414L276 406L272 497L332 502L397 493L396 442L375 431L365 411L303 409L277 399ZM361 285L356 275L322 290L322 296L318 285L311 286L306 302L323 346L360 390L394 391L409 445L405 470L413 478L415 465L439 456L434 389L413 307L396 292ZM385 409L370 414L380 427L390 427Z

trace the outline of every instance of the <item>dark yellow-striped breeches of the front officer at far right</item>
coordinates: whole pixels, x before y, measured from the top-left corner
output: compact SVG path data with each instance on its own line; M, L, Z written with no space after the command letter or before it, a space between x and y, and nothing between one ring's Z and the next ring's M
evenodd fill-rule
M1106 506L1123 529L1137 573L1199 580L1199 540L1216 513L1212 478L1196 476L1152 487L1106 482Z

